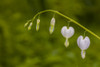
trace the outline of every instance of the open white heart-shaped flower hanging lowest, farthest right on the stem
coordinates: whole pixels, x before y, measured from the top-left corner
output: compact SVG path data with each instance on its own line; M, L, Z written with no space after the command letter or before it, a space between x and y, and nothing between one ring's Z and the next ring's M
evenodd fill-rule
M81 49L81 56L84 59L85 58L85 50L90 46L90 39L88 36L83 38L83 36L79 36L77 39L78 47Z

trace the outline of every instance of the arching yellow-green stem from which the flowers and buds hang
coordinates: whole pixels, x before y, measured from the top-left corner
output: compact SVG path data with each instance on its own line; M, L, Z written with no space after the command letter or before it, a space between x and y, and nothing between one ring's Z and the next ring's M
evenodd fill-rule
M34 21L34 19L35 19L39 14L42 14L42 13L45 13L45 12L54 12L54 13L56 13L56 14L58 14L58 15L64 17L64 18L70 20L71 22L77 24L78 26L80 26L81 28L83 28L84 30L86 30L87 32L89 32L90 34L92 34L93 36L95 36L96 38L98 38L98 39L100 40L100 37L99 37L98 35L96 35L94 32L92 32L91 30L87 29L86 27L84 27L83 25L81 25L80 23L78 23L77 21L71 19L71 18L68 17L68 16L65 16L64 14L62 14L62 13L56 11L56 10L44 10L44 11L38 12L38 13L33 17L32 21Z

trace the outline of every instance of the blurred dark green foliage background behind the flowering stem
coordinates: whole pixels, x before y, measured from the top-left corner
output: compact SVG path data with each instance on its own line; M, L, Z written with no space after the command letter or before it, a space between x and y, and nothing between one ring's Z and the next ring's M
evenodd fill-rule
M61 28L67 19L56 14L55 31L49 34L54 13L40 15L40 30L36 20L32 30L24 24L39 11L53 9L71 17L100 36L100 0L0 0L0 67L100 67L100 40L86 32L91 45L86 58L81 58L77 38L84 30L74 23L75 34L68 48Z

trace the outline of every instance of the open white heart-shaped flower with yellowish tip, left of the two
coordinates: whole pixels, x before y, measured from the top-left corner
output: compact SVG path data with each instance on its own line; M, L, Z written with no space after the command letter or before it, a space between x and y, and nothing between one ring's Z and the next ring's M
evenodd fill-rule
M65 46L68 47L69 46L69 41L68 38L72 37L74 35L74 28L73 27L67 27L67 26L63 26L61 29L61 34L63 35L63 37L66 38L65 41Z

